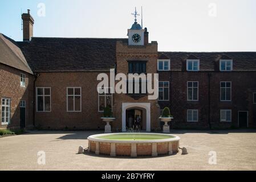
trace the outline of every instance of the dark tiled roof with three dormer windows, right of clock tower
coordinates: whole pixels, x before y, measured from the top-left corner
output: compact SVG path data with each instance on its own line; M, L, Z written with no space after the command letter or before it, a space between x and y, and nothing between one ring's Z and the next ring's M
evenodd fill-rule
M170 59L171 71L185 71L191 55L200 60L200 71L219 71L220 59L232 59L233 71L256 71L256 52L159 52Z

